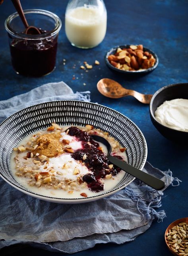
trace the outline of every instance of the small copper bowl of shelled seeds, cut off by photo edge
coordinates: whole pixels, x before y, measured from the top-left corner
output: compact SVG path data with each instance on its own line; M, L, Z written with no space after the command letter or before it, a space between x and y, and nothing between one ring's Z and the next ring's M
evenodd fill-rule
M188 256L188 217L177 219L167 227L165 242L172 254Z

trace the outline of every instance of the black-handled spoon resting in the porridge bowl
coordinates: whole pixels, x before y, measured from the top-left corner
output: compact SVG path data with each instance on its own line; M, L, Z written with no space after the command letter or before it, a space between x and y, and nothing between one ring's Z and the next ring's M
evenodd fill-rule
M148 186L154 188L155 190L162 190L165 187L165 182L163 182L162 180L155 178L154 176L152 176L146 172L143 172L143 171L135 168L134 166L127 164L126 162L124 162L122 160L119 160L118 158L116 158L114 156L111 156L110 153L111 153L112 149L111 149L110 143L105 138L103 138L101 136L97 136L97 135L90 135L90 136L95 141L99 141L107 147L107 150L108 150L107 158L112 164L115 164L116 166L118 166L119 168L124 170L125 172L128 172L129 174L138 178L139 180L141 180Z

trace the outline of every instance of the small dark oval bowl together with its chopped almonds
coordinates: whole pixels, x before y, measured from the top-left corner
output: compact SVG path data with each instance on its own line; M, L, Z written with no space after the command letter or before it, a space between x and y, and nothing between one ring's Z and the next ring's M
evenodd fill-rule
M119 45L107 52L105 63L112 70L124 74L144 74L153 71L159 59L143 45Z

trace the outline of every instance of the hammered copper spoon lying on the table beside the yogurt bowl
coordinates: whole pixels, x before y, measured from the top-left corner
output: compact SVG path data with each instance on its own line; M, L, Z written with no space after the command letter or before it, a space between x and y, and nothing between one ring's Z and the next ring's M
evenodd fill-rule
M153 96L152 94L141 94L140 92L123 88L118 82L109 78L99 80L97 89L101 94L109 98L117 99L130 95L143 104L149 104Z

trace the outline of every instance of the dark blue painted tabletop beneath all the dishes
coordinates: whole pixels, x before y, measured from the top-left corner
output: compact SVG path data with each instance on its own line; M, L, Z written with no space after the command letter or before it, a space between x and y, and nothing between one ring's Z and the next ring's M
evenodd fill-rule
M182 180L180 186L168 188L162 199L162 207L167 218L161 223L154 222L151 227L134 240L126 244L101 244L92 249L78 252L77 256L90 254L103 256L153 255L170 256L165 246L164 232L167 226L181 217L188 217L188 147L175 145L163 138L153 127L149 118L149 107L142 105L132 97L118 100L105 98L97 91L96 84L101 78L117 80L126 88L153 94L167 84L188 82L188 2L186 0L106 0L108 27L104 41L89 50L76 49L66 39L64 14L67 0L22 1L23 8L45 9L56 13L63 26L59 35L56 70L41 78L27 78L17 75L10 62L8 38L4 29L4 20L14 12L11 1L5 0L0 6L0 100L6 100L17 94L27 92L47 82L63 80L73 90L91 91L91 101L112 107L128 116L140 127L148 145L147 160L153 166L165 171L170 169L173 176ZM115 45L143 44L155 51L159 57L159 66L152 73L141 77L127 77L112 72L104 63L105 52ZM66 65L63 65L66 59ZM93 64L100 61L89 72L79 68L87 61ZM76 79L73 79L76 77ZM83 84L86 84L84 86ZM2 251L6 253L6 250ZM14 255L28 256L58 255L38 249L23 248Z

